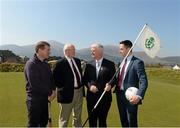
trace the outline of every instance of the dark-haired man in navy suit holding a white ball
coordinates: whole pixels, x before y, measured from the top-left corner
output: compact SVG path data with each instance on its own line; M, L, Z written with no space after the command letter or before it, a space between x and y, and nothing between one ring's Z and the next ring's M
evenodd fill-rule
M131 41L121 41L119 44L120 54L125 57L131 47ZM122 127L137 127L138 105L142 103L148 86L144 62L133 56L131 51L110 85L113 83L116 83L115 92ZM130 101L125 97L125 92L129 87L138 88L137 94Z

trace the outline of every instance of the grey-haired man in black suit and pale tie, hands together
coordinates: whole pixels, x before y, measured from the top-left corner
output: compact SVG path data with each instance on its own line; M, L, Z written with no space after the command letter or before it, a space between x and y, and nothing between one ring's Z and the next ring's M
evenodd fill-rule
M86 99L89 126L97 127L98 123L99 127L107 127L106 119L111 106L112 95L111 86L106 86L106 84L115 73L115 64L103 57L103 46L101 44L93 44L91 46L91 53L94 60L91 64L87 64L84 73L84 81L87 86ZM92 113L94 105L104 90L106 90L104 97Z

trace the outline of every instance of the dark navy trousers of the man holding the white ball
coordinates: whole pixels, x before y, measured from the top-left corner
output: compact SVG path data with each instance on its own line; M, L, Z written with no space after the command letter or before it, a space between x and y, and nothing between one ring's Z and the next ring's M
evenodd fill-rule
M132 105L126 99L124 91L116 92L117 105L122 127L138 127L138 105Z

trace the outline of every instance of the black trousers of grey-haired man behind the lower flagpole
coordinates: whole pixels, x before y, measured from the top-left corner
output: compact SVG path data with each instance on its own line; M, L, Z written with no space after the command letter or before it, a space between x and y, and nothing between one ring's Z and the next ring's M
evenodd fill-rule
M111 101L106 100L106 96L102 98L97 108L92 112L94 105L98 101L100 94L87 94L87 109L89 115L89 127L107 127L106 119L111 106ZM98 121L98 122L97 122Z

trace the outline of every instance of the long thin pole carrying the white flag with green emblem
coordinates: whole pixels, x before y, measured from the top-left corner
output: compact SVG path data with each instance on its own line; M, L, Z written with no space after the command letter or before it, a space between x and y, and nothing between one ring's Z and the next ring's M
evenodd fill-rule
M144 31L145 27L147 26L147 23L143 26L143 28L141 29L140 33L138 34L137 38L135 39L133 46L130 48L130 50L128 51L128 53L126 54L126 56L124 57L123 61L121 62L120 66L118 67L116 73L113 75L113 77L111 78L111 80L108 82L109 84L111 83L111 81L113 81L113 79L116 77L116 75L118 74L123 62L125 61L125 59L129 56L131 50L134 48L135 44L137 43L138 38L140 37L140 35L142 34L142 32ZM92 112L96 109L96 107L98 106L99 102L101 101L101 99L103 98L104 94L106 93L106 91L103 91L103 93L101 94L100 98L98 99L98 101L96 102L96 104L94 105L94 108L92 109ZM92 113L91 112L91 113ZM90 115L89 115L90 116ZM84 122L84 124L82 125L82 127L84 127L87 123L87 121L89 120L89 116L86 119L86 121Z

